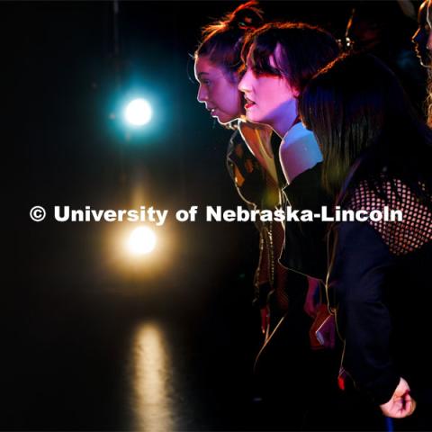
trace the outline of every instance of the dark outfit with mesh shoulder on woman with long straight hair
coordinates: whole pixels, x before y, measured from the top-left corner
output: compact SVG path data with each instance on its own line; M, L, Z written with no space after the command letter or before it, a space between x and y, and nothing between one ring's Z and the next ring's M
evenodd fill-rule
M430 430L432 198L422 202L408 184L382 174L357 181L339 203L354 211L387 205L403 216L339 222L331 229L328 292L345 343L341 373L376 405L390 401L403 377L419 409L406 421L421 414L423 423L410 428L427 430L428 421Z

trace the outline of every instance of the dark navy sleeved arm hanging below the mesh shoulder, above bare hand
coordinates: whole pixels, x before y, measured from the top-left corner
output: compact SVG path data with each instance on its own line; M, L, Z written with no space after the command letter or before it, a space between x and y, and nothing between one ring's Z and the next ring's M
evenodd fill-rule
M384 292L393 257L367 223L342 222L335 230L328 290L345 342L343 366L356 386L381 405L391 400L401 379L392 361Z

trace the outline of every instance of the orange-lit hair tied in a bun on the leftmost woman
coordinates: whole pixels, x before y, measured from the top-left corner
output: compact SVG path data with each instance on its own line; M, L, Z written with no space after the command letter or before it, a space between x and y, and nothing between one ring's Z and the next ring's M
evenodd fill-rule
M194 58L208 56L212 63L221 65L230 73L241 66L241 47L247 31L263 24L263 13L257 1L240 4L220 21L202 28L202 41L195 50Z

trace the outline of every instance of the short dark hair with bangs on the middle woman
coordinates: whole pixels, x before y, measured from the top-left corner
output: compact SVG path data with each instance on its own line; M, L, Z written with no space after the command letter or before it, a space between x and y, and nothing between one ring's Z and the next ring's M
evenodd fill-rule
M245 39L244 63L250 52L248 60L254 72L284 76L299 92L339 53L338 42L329 32L306 23L268 23ZM272 67L270 57L277 46L281 56L275 58L276 67Z

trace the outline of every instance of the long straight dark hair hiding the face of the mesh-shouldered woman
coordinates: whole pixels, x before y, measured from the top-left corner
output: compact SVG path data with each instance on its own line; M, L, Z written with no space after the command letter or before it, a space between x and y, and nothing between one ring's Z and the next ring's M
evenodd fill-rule
M320 144L323 184L330 193L339 193L348 173L353 186L385 173L419 195L425 196L419 182L430 189L432 131L378 58L340 56L306 86L299 112Z

